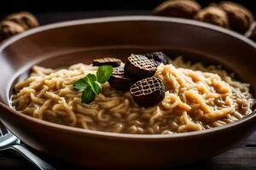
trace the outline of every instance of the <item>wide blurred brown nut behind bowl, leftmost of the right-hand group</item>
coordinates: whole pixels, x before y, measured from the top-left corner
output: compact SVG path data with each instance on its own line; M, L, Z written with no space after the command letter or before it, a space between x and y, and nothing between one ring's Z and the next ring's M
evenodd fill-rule
M153 14L192 19L200 9L193 0L168 0L154 8Z

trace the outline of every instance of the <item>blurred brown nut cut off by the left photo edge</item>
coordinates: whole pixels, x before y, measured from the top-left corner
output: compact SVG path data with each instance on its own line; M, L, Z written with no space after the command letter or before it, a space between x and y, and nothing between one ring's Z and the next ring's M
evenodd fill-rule
M25 29L19 24L10 20L3 20L0 22L0 41L3 41L23 31L25 31Z

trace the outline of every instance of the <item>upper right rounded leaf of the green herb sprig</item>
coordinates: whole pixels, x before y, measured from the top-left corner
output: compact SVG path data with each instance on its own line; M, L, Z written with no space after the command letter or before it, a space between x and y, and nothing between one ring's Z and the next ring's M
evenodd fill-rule
M97 82L104 83L107 82L109 77L113 73L113 67L111 65L102 65L98 68L96 73Z

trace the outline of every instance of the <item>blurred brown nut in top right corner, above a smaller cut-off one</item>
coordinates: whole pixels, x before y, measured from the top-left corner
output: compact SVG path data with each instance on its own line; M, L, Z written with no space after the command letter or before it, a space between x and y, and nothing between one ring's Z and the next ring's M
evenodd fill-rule
M247 8L232 2L222 2L220 7L228 15L231 30L244 33L252 25L253 14Z

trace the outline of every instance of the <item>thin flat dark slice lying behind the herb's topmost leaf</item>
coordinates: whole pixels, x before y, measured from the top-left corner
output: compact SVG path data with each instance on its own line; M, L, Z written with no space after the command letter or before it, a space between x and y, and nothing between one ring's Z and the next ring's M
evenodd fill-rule
M102 58L102 59L93 59L92 65L93 66L101 66L101 65L111 65L113 67L117 67L121 65L121 59L116 58Z

